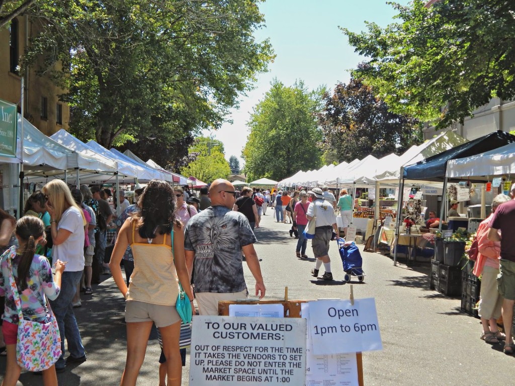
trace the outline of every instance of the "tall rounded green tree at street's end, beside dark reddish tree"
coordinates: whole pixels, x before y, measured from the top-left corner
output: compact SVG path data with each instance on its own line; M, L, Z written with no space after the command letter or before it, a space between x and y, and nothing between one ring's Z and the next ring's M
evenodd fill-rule
M299 170L320 167L321 131L315 113L322 92L291 87L277 79L250 117L250 134L243 150L250 181L268 177L280 181Z

